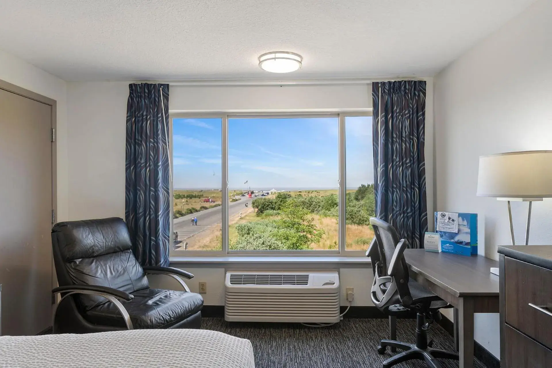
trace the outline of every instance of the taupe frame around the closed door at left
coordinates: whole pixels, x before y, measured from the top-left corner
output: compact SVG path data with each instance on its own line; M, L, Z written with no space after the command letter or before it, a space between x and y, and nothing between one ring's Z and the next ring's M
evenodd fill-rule
M15 84L3 81L0 79L0 89L6 90L14 94L18 94L22 97L35 100L36 102L43 103L45 105L51 106L52 116L51 116L51 129L55 130L57 136L57 101L49 97L43 96L39 93L33 92L31 90L25 89L23 87L16 86ZM47 138L47 137L46 137ZM57 222L57 137L54 142L51 142L50 145L50 154L52 161L52 210L55 213L55 220ZM54 225L54 224L52 224ZM56 269L54 265L54 257L52 255L52 288L57 286L57 277ZM55 300L52 298L52 305L55 304Z

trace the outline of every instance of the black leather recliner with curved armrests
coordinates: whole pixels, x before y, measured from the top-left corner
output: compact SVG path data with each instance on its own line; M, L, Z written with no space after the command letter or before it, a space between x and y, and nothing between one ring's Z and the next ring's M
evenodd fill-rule
M140 266L121 218L56 223L52 249L59 284L52 292L62 295L54 333L200 328L203 298L179 277L194 276L171 267ZM146 274L171 276L184 291L150 289Z

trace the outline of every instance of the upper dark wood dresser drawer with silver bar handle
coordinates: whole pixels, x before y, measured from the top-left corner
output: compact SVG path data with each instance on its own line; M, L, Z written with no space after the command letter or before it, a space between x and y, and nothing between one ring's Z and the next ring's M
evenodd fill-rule
M506 323L552 348L552 271L505 259Z

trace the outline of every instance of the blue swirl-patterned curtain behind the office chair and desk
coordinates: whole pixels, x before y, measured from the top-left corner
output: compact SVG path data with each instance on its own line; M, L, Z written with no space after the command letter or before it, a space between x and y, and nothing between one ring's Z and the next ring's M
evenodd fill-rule
M394 226L411 248L423 248L426 82L374 82L372 100L376 217Z

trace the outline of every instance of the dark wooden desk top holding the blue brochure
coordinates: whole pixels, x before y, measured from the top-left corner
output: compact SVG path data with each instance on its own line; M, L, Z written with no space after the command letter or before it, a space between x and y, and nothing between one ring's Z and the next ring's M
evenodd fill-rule
M405 258L412 271L454 296L498 296L498 276L491 274L496 260L424 249L406 249Z

